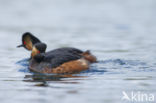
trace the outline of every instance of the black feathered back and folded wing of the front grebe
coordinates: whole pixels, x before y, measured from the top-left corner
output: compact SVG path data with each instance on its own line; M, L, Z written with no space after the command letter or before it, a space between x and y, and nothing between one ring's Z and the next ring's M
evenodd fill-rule
M38 54L34 57L36 62L49 63L51 68L55 68L65 62L80 59L81 50L76 48L59 48L47 53Z

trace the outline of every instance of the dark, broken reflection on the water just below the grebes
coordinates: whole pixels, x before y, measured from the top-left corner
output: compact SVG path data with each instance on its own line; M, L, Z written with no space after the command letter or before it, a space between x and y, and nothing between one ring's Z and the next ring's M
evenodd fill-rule
M75 76L72 74L68 75L46 75L46 74L38 74L35 73L33 75L25 75L24 82L35 82L36 84L34 86L39 87L47 87L48 82L59 82L63 84L78 84L78 80L83 80L84 78L87 78L87 76ZM73 81L73 79L76 79Z

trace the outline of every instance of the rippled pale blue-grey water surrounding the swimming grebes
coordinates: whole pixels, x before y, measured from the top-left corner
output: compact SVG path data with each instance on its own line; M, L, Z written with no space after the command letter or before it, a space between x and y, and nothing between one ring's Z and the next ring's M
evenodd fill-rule
M1 103L135 103L122 92L156 95L155 10L155 0L0 0ZM33 74L30 52L16 48L26 31L48 50L89 49L99 62L68 77Z

